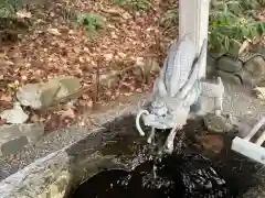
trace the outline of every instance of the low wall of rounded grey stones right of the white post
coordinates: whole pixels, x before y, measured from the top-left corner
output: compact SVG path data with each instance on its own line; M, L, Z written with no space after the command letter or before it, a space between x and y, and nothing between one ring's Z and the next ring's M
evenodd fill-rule
M265 47L256 45L239 57L209 53L208 76L220 76L233 84L250 87L265 86Z

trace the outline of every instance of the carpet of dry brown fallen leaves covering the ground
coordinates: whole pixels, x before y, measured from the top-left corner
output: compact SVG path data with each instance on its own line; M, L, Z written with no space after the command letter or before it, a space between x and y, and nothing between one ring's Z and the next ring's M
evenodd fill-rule
M163 40L158 28L161 15L158 1L151 2L152 9L148 12L128 12L107 1L75 0L66 4L71 9L100 13L106 18L106 29L91 41L81 26L68 23L65 1L49 8L32 6L17 13L32 20L26 34L19 35L17 43L0 45L0 110L9 107L17 88L28 82L71 75L82 79L83 87L87 87L75 106L61 105L45 112L25 109L31 114L31 122L44 122L49 131L74 123L92 108L96 91L93 76L97 68L100 75L106 75L134 65L139 57L161 62L163 56L157 41L157 37ZM167 43L165 41L161 42ZM126 72L118 75L112 88L100 86L100 101L97 102L150 89L150 81L144 84L132 72Z

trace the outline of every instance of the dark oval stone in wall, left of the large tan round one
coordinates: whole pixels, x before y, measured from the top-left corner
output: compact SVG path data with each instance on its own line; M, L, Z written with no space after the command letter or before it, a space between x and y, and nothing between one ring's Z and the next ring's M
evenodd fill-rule
M218 69L227 72L227 73L236 73L241 70L243 67L243 63L237 61L236 58L230 56L223 56L218 61Z

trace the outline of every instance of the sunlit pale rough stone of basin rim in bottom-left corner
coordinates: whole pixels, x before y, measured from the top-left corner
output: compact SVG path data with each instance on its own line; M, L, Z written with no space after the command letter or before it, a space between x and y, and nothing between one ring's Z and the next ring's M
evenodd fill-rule
M0 182L0 198L64 198L72 179L68 165L70 157L64 152L40 158Z

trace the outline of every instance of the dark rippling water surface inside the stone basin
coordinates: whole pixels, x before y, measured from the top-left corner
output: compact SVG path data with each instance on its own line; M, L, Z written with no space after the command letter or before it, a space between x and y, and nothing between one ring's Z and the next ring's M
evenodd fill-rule
M152 161L134 170L103 170L83 183L72 198L233 198L225 180L199 154L163 157L153 178Z

